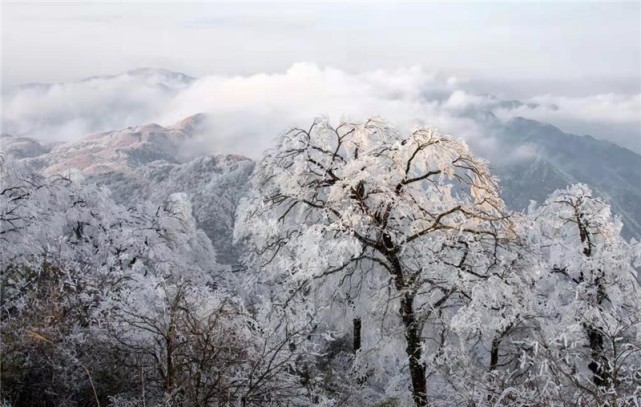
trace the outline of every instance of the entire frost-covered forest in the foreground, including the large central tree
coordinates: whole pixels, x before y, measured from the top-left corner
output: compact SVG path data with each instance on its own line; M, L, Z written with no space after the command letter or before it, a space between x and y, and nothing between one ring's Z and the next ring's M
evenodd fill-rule
M234 267L189 194L0 176L5 407L641 403L641 245L584 184L509 210L431 128L285 132L205 206Z

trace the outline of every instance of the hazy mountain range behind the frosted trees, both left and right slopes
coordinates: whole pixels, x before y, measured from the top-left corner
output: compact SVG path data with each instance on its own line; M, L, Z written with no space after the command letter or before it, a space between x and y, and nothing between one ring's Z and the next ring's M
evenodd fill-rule
M73 86L93 89L115 83L116 90L122 93L135 84L135 89L153 90L154 95L162 98L195 80L180 73L141 69L88 78ZM57 86L23 85L3 96L11 98L25 89L51 94ZM134 103L135 92L130 92L127 98ZM127 117L127 106L119 104L115 108L120 116ZM88 118L87 123L96 122L94 116L99 117L89 108L79 112ZM610 202L623 220L626 237L641 237L641 156L611 142L568 134L545 123L523 118L499 120L492 110L462 114L482 123L482 128L498 142L500 152L494 159L490 157L490 165L501 180L503 197L511 208L524 210L531 200L541 202L555 189L582 182ZM197 114L170 126L130 126L77 141L51 143L29 137L31 122L25 119L23 126L4 126L5 131L17 133L2 134L0 149L44 174L73 173L85 182L103 185L111 190L116 201L126 205L139 200L161 202L171 193L188 193L199 227L218 249L219 261L232 264L237 258L231 244L234 213L247 190L254 161L239 155L210 154L216 152L216 145L210 142L202 146L202 135L215 131L207 125L208 120L207 115ZM98 122L99 127L111 123ZM518 154L520 151L528 154Z

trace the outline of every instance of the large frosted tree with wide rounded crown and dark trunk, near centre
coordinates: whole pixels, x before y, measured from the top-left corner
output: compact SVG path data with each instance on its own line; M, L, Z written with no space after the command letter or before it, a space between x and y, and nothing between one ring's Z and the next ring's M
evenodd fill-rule
M360 302L379 320L396 310L411 400L427 405L429 361L446 354L453 313L504 271L512 231L487 165L430 128L317 120L286 132L252 183L236 235L254 264L292 282L290 294Z

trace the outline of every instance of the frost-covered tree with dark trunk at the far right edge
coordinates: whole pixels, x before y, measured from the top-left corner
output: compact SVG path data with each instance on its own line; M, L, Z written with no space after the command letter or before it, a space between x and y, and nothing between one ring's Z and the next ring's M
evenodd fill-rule
M589 187L555 191L531 217L548 270L541 292L540 356L557 397L628 405L641 389L640 247Z

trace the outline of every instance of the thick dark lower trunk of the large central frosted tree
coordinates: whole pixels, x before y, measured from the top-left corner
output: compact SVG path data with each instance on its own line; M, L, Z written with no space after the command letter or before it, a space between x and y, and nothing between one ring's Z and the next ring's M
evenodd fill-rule
M396 290L403 293L399 312L405 327L405 340L407 341L405 353L407 354L410 377L412 378L412 398L417 407L426 407L427 379L425 377L425 366L421 363L421 332L414 314L414 294L408 290L409 287L406 287L398 257L388 255L387 258L392 264Z

